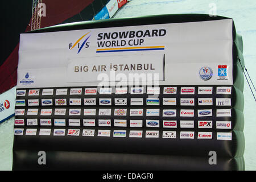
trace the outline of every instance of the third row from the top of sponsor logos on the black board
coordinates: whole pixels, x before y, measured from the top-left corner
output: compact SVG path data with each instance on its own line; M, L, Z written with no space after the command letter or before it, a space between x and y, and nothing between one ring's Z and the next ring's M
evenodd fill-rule
M53 109L41 109L40 115L52 115ZM55 109L54 115L66 115L67 109ZM81 115L80 108L78 109L68 109L68 115ZM116 116L127 116L127 109L98 109L97 115L116 115ZM130 116L143 116L143 109L129 109ZM160 116L160 109L144 109L146 110L146 116ZM39 109L27 109L27 115L38 115ZM25 109L15 109L15 115L24 115ZM84 115L96 115L96 109L84 109ZM163 117L212 117L212 109L198 109L196 112L194 109L180 109L179 114L177 114L176 109L163 109ZM216 117L231 117L231 109L217 109Z

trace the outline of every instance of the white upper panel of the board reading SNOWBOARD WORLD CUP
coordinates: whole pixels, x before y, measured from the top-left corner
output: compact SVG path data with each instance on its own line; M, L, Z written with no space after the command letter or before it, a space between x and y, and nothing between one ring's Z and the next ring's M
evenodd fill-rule
M75 73L76 66L96 65L104 71L105 65L109 72L111 64L144 63L154 64L159 85L232 85L232 23L223 19L21 34L17 88L97 86L102 72ZM130 71L118 66L115 73Z

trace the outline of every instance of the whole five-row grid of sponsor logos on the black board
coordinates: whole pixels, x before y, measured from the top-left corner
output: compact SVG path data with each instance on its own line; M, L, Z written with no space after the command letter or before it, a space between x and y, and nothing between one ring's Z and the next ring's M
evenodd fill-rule
M14 134L170 139L212 139L215 137L220 140L230 140L231 134L227 129L232 129L232 121L221 121L221 117L232 116L230 109L232 99L226 97L231 92L231 86L17 90L15 108L17 117L14 125L46 127L38 129L38 132L36 129L15 128ZM156 97L152 96L154 94ZM128 95L130 97L127 97ZM199 107L195 109L195 106ZM26 115L35 117L26 118ZM41 115L43 118L37 118ZM97 115L104 117L95 119ZM76 118L76 116L79 117ZM81 117L84 118L81 119ZM47 126L108 126L110 130L77 129L76 127L49 129ZM122 130L113 130L112 127L122 127ZM123 127L143 130L123 130ZM149 130L152 127L160 130ZM177 131L183 128L191 129L191 131ZM192 129L221 129L225 132L216 136L216 133L212 131Z

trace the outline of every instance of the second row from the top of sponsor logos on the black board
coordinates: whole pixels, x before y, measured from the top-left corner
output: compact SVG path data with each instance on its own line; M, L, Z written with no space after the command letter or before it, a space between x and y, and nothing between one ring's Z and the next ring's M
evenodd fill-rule
M69 100L69 101L67 101ZM101 106L112 106L112 98L99 98L98 103ZM81 98L56 98L53 99L39 99L27 100L28 106L56 106L80 105ZM143 98L130 98L130 105L143 105ZM163 98L163 105L177 105L176 98ZM198 98L197 104L199 106L213 105L213 98ZM84 98L84 105L96 105L96 98ZM114 98L114 105L127 105L127 98ZM160 105L159 98L146 98L146 105ZM180 98L181 106L195 106L195 98ZM16 106L26 106L25 100L16 100ZM216 98L216 106L231 106L231 98Z

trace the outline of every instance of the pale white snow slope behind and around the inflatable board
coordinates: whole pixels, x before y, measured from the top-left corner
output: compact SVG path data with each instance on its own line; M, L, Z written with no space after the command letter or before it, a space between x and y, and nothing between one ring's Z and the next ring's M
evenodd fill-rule
M211 4L214 3L214 4ZM251 80L256 80L256 1L255 0L132 0L113 18L158 14L209 14L216 5L216 14L234 19L237 33L243 38L243 56ZM212 14L212 13L211 13ZM245 80L246 81L246 80ZM245 82L245 169L256 170L256 104ZM255 94L255 92L254 92ZM0 170L11 170L13 162L14 118L0 124Z

